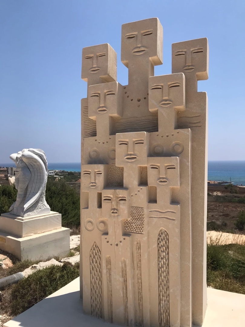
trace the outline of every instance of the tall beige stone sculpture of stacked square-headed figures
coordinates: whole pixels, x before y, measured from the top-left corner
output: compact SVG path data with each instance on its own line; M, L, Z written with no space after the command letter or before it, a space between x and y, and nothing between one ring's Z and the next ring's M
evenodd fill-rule
M157 18L122 26L128 85L109 44L83 49L84 313L123 326L201 326L206 310L207 39L172 45Z

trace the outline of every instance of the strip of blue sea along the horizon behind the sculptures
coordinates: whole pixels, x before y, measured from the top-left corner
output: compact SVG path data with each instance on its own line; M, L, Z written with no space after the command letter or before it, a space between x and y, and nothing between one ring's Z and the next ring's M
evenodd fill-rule
M13 163L0 163L2 167L13 167ZM81 171L81 163L49 163L49 169ZM227 181L234 185L245 185L245 161L209 161L208 181Z

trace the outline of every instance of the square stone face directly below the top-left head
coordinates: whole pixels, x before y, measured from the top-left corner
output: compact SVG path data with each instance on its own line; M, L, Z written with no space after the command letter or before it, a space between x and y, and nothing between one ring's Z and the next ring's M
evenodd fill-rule
M118 82L89 86L89 117L99 114L109 114L119 117L122 115L123 87Z

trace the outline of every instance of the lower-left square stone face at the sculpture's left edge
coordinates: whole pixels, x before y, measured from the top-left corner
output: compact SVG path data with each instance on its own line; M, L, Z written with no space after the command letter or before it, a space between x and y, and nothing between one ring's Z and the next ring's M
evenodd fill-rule
M108 165L103 164L83 164L81 173L81 184L83 191L96 189L101 191L106 182Z

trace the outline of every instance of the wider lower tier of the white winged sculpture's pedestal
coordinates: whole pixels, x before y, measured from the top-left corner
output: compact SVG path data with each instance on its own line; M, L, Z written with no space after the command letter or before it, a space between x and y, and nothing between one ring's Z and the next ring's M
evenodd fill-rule
M70 229L57 230L27 237L13 236L0 231L0 249L13 254L19 260L46 260L54 256L64 257L70 250Z

